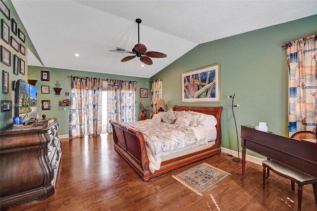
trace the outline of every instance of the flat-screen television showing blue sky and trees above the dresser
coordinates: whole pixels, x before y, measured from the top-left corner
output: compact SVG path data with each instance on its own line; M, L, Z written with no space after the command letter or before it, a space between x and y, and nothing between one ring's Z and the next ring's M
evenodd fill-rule
M24 81L15 83L14 116L21 116L22 122L36 118L38 106L38 89Z

